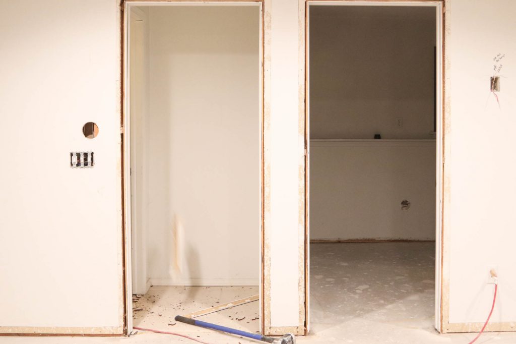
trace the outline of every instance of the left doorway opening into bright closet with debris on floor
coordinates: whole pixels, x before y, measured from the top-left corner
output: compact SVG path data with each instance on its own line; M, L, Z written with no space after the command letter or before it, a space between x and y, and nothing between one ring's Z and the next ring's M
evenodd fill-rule
M260 2L125 4L128 332L261 331L262 74Z

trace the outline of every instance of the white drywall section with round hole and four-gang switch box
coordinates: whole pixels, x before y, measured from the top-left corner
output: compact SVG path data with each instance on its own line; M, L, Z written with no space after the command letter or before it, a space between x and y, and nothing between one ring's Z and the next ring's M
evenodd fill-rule
M0 332L122 333L118 5L0 2Z

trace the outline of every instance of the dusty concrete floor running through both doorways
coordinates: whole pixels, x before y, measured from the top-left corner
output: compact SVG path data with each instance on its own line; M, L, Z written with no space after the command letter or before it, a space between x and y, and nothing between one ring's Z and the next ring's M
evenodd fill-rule
M299 344L466 344L475 337L475 334L440 335L433 329L433 243L312 244L310 270L311 334L298 337ZM175 322L173 316L178 312L185 314L217 301L223 303L255 293L254 287L153 287L135 304L143 308L135 312L135 325L187 333L210 344L256 343L180 323L168 325ZM191 296L195 296L195 303ZM254 332L258 321L250 319L256 317L257 307L254 302L200 319ZM244 316L245 319L236 320ZM195 343L141 331L130 338L0 337L0 343L4 342ZM487 343L514 344L516 333L485 333L476 342Z

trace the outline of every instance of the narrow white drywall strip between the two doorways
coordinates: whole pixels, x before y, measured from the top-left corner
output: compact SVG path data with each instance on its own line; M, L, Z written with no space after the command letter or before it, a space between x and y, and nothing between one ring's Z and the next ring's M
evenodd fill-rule
M300 26L304 15L299 12L300 8L303 5L300 7L297 0L270 1L270 23L265 24L266 30L270 25L270 65L266 65L270 66L270 88L265 85L266 95L270 96L270 123L266 123L264 138L266 178L269 176L265 187L270 187L270 205L265 205L270 289L265 292L270 292L272 327L302 328L304 121L300 110L304 109L300 109L300 99L304 95L304 82L299 85L304 80L304 52L300 50L299 39L304 30L304 25ZM267 324L267 319L265 321Z

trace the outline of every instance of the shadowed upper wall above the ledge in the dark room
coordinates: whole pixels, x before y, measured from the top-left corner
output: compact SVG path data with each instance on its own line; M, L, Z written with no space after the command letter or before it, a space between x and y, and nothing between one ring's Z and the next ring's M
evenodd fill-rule
M311 6L310 137L432 138L435 45L433 7Z

